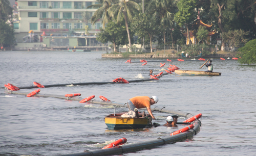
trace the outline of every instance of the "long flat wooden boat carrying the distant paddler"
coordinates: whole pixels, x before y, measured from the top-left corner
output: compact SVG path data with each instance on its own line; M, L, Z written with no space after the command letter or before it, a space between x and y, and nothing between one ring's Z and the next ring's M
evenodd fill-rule
M176 74L181 76L220 76L221 72L205 72L195 70L175 70Z

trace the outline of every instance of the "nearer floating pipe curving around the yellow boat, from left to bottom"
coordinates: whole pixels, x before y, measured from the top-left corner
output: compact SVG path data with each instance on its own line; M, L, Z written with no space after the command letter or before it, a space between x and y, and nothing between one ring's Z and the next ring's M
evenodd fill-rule
M22 92L22 91L11 91L10 92L10 91L6 90L6 92L12 93L12 94L19 94L19 95L29 94L29 92ZM78 96L65 96L65 95L40 94L40 93L37 93L34 96L56 97L56 98L61 98L61 99L77 100L77 101L80 101L80 100L83 99L82 97L78 97ZM92 96L95 97L94 95L92 95ZM113 106L127 107L126 103L118 103L118 102L114 102L114 101L99 101L99 100L91 99L87 102L88 103L101 104L101 105L113 105ZM155 107L155 108L152 108L152 111L159 111L159 112L177 114L177 115L181 115L181 116L184 116L186 118L189 118L188 120L190 120L191 118L197 119L197 118L195 118L195 116L193 116L189 113L178 111L178 110L168 110L164 107L163 108ZM201 117L202 115L198 114L196 116L198 116L198 118L199 118L199 116ZM184 122L184 124L189 124L189 123ZM117 153L124 153L124 152L132 152L132 151L137 151L137 150L145 149L145 148L150 149L150 148L154 148L154 147L159 146L159 145L164 145L164 144L167 144L167 143L174 143L174 142L177 142L177 141L182 141L182 140L185 140L185 139L188 139L188 138L192 137L193 135L196 135L197 133L200 132L201 121L196 120L194 122L193 126L190 125L190 127L193 127L193 128L189 128L189 130L186 131L186 132L179 131L179 133L177 132L173 136L168 136L168 137L164 137L164 138L157 138L157 139L151 140L151 141L128 144L128 145L122 145L122 146L117 146L117 147L113 147L113 148L99 149L99 150L94 150L94 151L86 151L86 152L73 153L73 154L64 154L63 156L65 156L65 155L66 156L110 155L110 154L117 154Z

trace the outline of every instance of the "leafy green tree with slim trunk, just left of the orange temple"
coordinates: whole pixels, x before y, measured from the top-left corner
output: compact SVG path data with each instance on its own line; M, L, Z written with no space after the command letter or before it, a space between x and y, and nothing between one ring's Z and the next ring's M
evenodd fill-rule
M179 11L175 14L174 20L182 27L185 25L187 29L187 38L189 40L189 44L192 44L189 36L189 23L193 22L197 14L195 12L196 8L196 0L180 0L177 4Z

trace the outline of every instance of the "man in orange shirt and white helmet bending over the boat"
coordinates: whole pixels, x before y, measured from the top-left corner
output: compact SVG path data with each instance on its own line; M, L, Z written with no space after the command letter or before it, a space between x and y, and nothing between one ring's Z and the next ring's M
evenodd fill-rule
M158 102L158 97L157 96L135 96L133 98L130 98L127 101L127 106L130 111L134 111L135 108L140 109L140 108L146 108L147 112L151 115L152 119L156 119L154 115L152 114L151 111L151 105L154 105L155 103Z

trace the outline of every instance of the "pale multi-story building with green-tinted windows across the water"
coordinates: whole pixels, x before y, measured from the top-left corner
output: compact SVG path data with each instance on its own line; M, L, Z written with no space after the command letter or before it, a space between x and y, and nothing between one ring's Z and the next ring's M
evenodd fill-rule
M18 43L25 42L31 31L36 38L43 32L47 36L72 36L74 32L95 36L102 27L101 20L91 24L90 19L97 9L87 9L97 4L96 0L17 0L16 4L18 20L14 22L14 30Z

